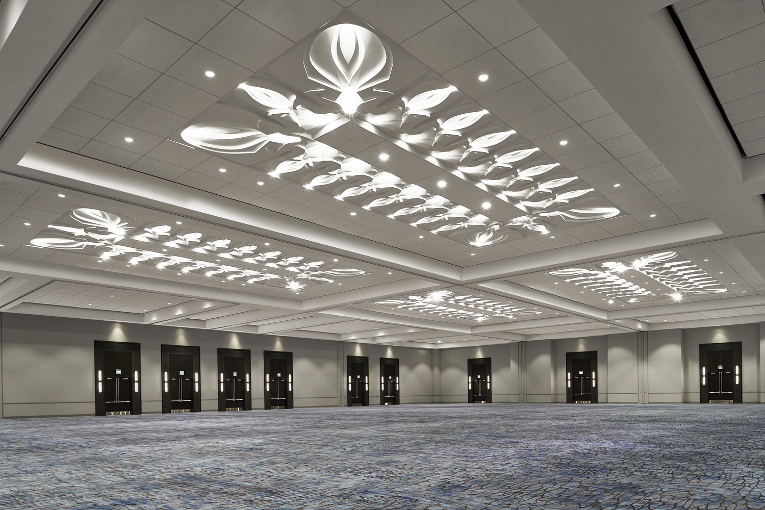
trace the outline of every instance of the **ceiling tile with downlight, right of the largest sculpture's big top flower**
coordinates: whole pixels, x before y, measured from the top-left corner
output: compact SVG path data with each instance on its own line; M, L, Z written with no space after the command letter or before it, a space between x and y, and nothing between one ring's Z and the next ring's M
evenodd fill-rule
M485 82L478 80L481 74L489 76L488 80ZM444 73L444 78L471 98L480 99L517 83L526 76L495 49Z

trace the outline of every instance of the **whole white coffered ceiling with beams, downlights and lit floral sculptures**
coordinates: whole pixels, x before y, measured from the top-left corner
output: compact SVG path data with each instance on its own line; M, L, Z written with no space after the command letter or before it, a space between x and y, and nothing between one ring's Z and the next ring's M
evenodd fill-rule
M30 0L0 309L432 349L763 320L762 162L665 4L569 3Z

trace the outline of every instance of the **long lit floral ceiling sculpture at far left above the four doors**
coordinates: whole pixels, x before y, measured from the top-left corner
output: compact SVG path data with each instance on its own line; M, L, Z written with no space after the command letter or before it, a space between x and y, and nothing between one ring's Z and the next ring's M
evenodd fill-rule
M85 250L101 260L119 259L128 265L148 262L158 269L174 268L179 274L197 273L205 276L225 277L247 283L265 282L293 291L309 283L332 283L334 278L358 276L365 271L353 268L324 269L324 261L309 261L299 255L269 250L258 252L256 245L236 245L229 239L203 239L199 232L176 233L168 225L148 226L137 234L129 234L127 222L106 211L77 208L70 213L70 225L49 225L44 237L32 239L37 248ZM180 255L153 252L126 245L124 239L155 242L175 249L187 249L200 254L214 254L215 262ZM192 248L192 245L195 245ZM230 264L220 263L225 258ZM263 271L255 268L263 269ZM275 271L274 271L275 270Z

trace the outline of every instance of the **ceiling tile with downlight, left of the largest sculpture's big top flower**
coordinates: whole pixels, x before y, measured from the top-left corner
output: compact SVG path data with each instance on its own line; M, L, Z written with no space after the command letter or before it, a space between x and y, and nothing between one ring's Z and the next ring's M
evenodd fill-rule
M215 76L207 77L207 71L213 71ZM220 97L247 80L252 72L195 44L167 70L166 74Z

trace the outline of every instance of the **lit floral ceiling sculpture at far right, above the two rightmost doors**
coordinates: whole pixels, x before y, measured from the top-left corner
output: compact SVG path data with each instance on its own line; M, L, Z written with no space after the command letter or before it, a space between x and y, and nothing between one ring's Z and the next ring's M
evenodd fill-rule
M622 278L628 271L636 271L659 284L672 289L662 296L682 300L685 294L719 294L728 291L715 278L689 260L673 260L677 252L662 252L636 258L628 264L620 261L607 261L601 268L569 268L550 271L552 276L560 276L568 283L579 285L604 296L625 300L627 303L657 299L659 295L640 285Z

